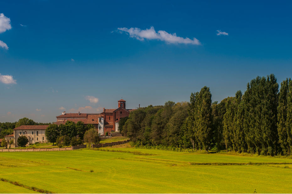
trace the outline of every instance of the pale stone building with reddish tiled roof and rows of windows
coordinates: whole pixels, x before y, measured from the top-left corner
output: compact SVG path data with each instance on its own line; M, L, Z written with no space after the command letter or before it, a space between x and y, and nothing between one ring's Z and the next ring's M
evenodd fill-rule
M19 136L26 136L29 144L35 142L46 143L45 131L49 125L21 125L13 130L14 146L18 147L17 139Z

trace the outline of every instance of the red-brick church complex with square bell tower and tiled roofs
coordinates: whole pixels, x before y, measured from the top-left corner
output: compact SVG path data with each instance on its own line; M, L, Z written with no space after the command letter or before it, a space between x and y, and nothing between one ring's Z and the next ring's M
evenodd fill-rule
M118 101L117 109L103 109L99 114L88 113L66 113L62 112L62 115L56 116L57 122L54 124L65 124L67 121L73 121L77 123L82 121L84 125L92 124L99 135L105 135L106 132L110 135L111 132L118 131L119 121L121 118L129 116L129 113L134 109L126 109L126 100Z

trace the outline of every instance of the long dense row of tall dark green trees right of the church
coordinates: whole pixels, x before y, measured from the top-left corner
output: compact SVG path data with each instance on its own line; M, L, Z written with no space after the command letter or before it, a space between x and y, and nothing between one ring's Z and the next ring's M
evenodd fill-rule
M217 148L259 155L292 153L292 81L278 89L276 77L257 77L244 94L212 103L208 87L192 93L190 102L168 101L130 113L122 128L138 145L197 150Z

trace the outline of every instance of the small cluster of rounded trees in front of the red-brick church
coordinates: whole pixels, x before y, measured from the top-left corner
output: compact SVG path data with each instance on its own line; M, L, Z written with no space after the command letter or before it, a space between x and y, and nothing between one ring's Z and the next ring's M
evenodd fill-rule
M50 124L45 135L49 142L53 145L57 143L59 147L83 144L83 140L89 143L99 142L99 136L94 126L92 124L84 126L81 121L76 124L72 121L67 121L64 125Z

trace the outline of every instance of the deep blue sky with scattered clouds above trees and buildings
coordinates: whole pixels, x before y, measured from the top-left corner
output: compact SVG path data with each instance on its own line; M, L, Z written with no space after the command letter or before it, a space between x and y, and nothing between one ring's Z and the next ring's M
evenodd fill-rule
M1 1L0 122L99 113L121 98L127 108L188 101L205 85L221 101L270 73L280 84L291 77L291 8L289 1Z

